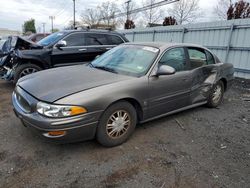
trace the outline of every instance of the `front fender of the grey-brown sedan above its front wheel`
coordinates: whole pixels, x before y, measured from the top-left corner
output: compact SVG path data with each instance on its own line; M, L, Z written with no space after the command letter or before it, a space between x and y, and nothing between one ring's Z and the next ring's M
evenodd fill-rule
M95 112L104 111L119 100L131 99L136 101L144 111L147 108L149 93L148 78L142 77L88 89L66 96L54 103L81 105L88 112Z

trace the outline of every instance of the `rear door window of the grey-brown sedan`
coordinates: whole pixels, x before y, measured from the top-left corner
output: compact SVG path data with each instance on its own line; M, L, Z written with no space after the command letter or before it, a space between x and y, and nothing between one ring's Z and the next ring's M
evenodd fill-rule
M206 53L203 49L188 48L190 68L195 69L207 64Z

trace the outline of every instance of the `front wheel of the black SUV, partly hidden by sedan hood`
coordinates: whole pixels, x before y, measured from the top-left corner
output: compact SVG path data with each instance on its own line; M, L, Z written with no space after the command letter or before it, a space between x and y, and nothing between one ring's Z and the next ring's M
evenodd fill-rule
M23 77L23 76L26 76L28 74L32 74L32 73L35 73L35 72L38 72L42 70L41 67L35 65L35 64L32 64L32 63L25 63L25 64L21 64L19 65L16 70L15 70L15 74L14 74L14 79L13 79L13 82L14 83L17 83L17 81ZM29 73L30 72L30 73ZM26 74L25 74L26 73Z

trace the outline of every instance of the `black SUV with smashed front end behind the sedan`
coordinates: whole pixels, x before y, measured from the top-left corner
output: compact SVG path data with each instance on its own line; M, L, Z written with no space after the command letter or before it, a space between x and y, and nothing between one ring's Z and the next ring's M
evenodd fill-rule
M16 37L0 58L0 76L15 83L43 69L90 62L124 42L128 40L117 32L88 29L53 33L38 43Z

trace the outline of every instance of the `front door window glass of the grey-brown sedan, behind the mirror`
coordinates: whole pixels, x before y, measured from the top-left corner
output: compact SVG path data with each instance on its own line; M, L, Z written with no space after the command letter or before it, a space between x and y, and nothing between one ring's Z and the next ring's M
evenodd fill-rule
M176 72L186 70L186 56L184 48L168 50L160 60L160 65L173 67Z

